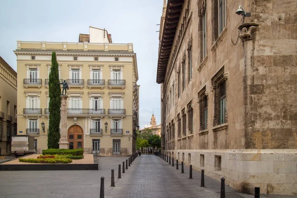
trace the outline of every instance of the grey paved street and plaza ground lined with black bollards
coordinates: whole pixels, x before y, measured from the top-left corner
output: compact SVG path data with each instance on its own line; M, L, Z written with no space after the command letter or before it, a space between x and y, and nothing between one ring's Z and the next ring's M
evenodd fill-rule
M0 198L99 198L100 177L105 178L105 198L219 198L220 183L205 177L206 188L189 168L185 174L154 155L136 158L122 179L117 179L118 164L128 157L101 157L99 171L1 171ZM110 187L111 169L115 186ZM5 182L3 182L5 181ZM297 196L261 196L296 198ZM253 198L226 187L226 198Z

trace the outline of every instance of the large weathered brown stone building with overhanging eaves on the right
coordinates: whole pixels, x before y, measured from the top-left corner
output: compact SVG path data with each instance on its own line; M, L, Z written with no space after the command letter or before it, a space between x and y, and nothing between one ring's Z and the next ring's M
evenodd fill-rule
M297 195L296 5L164 0L163 153L241 192Z

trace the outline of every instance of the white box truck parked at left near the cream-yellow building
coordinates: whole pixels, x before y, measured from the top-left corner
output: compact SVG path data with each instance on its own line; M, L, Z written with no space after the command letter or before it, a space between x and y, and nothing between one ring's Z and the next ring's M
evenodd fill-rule
M17 135L11 137L11 154L27 155L34 153L34 137L28 135Z

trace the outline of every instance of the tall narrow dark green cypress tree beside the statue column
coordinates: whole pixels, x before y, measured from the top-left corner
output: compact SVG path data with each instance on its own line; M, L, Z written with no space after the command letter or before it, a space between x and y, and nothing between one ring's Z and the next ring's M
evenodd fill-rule
M60 140L60 108L61 87L59 85L59 66L55 51L51 53L51 68L49 73L49 133L48 148L59 148Z

